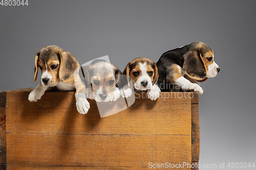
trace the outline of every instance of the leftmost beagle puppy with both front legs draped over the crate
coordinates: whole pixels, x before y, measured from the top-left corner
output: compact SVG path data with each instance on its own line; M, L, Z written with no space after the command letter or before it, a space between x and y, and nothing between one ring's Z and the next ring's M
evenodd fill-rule
M79 63L69 52L56 45L42 48L35 55L34 82L37 79L38 68L41 70L41 81L30 92L28 100L36 102L45 91L57 89L73 91L76 89L76 107L81 114L86 114L90 104L86 99L86 86L82 83L78 71Z

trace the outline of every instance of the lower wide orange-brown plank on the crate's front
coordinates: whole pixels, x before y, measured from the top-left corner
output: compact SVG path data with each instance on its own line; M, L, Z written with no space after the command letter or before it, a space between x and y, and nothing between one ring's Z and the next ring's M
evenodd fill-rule
M191 162L187 135L8 134L8 164L148 167Z

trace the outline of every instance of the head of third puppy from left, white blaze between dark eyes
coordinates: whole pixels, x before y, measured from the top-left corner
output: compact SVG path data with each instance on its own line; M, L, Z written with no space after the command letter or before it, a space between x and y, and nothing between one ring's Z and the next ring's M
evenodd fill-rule
M132 79L134 88L137 90L151 89L157 83L158 71L156 64L147 58L136 58L125 67L123 74L126 74L128 86L129 76ZM125 82L126 82L125 81Z

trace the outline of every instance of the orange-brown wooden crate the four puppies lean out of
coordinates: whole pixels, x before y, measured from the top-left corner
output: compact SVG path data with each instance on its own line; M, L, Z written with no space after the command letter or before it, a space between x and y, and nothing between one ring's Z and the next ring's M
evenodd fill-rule
M88 114L79 114L74 92L46 92L31 103L31 90L0 92L1 169L146 169L150 162L199 161L197 92L161 92L157 101L139 98L100 118L90 100Z

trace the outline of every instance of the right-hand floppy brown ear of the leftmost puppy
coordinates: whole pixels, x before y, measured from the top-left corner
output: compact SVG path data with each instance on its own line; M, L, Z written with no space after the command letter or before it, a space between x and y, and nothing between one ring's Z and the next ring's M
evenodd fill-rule
M74 81L74 72L79 67L76 58L69 52L58 52L60 56L59 79L63 83Z

